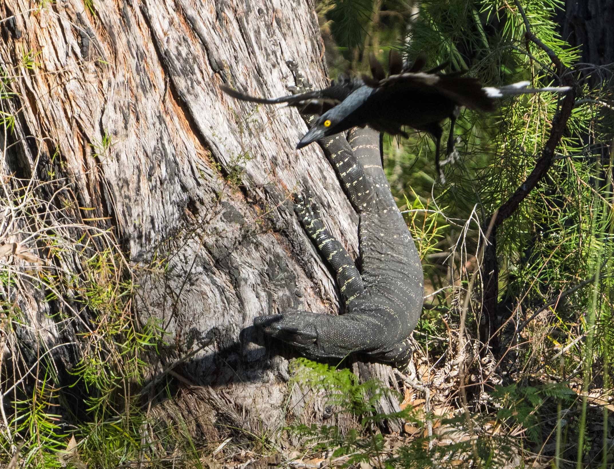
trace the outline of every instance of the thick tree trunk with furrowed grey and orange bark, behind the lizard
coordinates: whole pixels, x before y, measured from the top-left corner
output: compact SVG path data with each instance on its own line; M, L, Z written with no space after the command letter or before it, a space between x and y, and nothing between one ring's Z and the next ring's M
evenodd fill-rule
M152 377L173 380L176 393L155 401L153 412L192 422L193 436L216 439L229 427L262 435L287 417L322 419L322 395L305 399L287 385L287 358L295 355L255 331L252 320L287 309L338 308L333 276L293 214L293 189L313 189L350 252L357 248L357 216L319 149L295 151L306 131L298 112L243 103L219 90L227 83L253 95L284 95L290 59L324 85L313 5L29 5L0 6L0 21L9 18L0 23L0 60L15 75L10 86L17 93L1 101L2 115L15 116L14 130L5 127L0 136L2 173L23 179L6 176L2 184L14 191L35 181L39 197L57 208L47 210L45 226L54 226L64 243L84 233L90 247L119 243L139 285L131 312L141 324L156 318L168 333ZM30 57L38 64L28 66ZM45 261L41 269L82 273L76 250L51 253L49 244L27 237L44 231L33 220L15 219L10 229L4 223L0 245L23 242ZM15 262L15 269L28 265ZM76 334L95 321L90 309L70 296L45 301L36 282L17 292L3 288L4 299L30 319L21 341L58 347L56 365L71 369L82 354ZM74 344L59 346L65 342ZM392 376L382 365L360 369L362 377ZM166 382L158 381L148 397ZM394 400L381 406L398 407ZM327 424L354 424L339 419Z

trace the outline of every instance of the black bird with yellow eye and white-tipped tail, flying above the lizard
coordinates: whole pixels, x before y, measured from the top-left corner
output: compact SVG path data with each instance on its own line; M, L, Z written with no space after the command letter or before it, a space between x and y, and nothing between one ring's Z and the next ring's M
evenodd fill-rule
M446 65L421 72L424 66L424 59L421 58L413 66L404 67L395 50L391 50L389 55L389 76L386 76L383 66L373 55L370 57L370 65L373 77L343 77L325 89L280 98L256 98L226 85L221 85L220 89L243 101L287 103L289 106L300 107L301 112L306 114L321 114L298 142L297 149L324 136L365 125L379 132L405 137L405 125L424 130L435 140L435 165L442 184L445 183L445 177L440 167L440 141L443 133L441 121L451 119L448 138L450 154L454 147L454 122L460 106L475 111L494 111L494 98L569 90L569 87L530 89L526 81L503 87L483 87L477 78L463 77L459 73L438 73Z

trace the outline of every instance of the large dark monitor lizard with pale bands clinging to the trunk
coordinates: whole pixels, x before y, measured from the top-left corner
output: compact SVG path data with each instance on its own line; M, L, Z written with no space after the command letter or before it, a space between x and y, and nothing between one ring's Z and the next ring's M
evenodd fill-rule
M291 65L298 90L305 79ZM317 116L303 116L308 125ZM295 211L321 255L337 274L346 313L308 311L260 316L254 325L313 358L358 358L405 368L408 337L422 310L422 265L381 167L379 133L356 128L318 141L360 216L361 270L322 222L309 197L298 196Z

